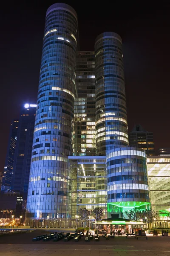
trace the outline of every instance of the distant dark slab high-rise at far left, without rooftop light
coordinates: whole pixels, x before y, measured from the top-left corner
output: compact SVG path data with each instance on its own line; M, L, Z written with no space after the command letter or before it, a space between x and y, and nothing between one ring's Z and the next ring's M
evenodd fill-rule
M7 154L6 154L5 167L3 171L3 177L2 177L2 188L1 188L2 190L11 188L18 126L19 126L19 120L14 119L11 122L10 131L9 131Z

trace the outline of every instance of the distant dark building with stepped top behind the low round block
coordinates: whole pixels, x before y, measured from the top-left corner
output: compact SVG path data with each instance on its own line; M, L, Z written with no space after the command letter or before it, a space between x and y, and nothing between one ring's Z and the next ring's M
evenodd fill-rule
M129 145L144 149L148 156L155 155L153 133L144 130L141 125L135 125L129 133Z

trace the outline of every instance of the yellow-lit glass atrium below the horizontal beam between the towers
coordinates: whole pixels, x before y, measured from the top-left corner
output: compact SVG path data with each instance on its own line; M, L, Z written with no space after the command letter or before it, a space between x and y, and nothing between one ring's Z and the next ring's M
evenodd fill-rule
M72 189L72 220L79 208L104 209L107 216L107 179L104 157L69 157L74 161L74 188Z

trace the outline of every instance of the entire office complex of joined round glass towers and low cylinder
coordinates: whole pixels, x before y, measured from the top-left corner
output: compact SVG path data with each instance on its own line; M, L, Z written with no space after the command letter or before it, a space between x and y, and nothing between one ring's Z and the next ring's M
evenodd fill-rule
M75 227L82 207L102 207L105 218L149 206L146 154L128 147L122 39L105 32L94 51L77 49L76 12L53 4L46 13L29 177L31 227Z

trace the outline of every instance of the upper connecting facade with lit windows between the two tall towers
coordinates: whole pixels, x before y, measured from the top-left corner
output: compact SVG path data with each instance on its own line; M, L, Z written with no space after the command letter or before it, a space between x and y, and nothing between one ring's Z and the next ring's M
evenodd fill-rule
M78 52L74 105L73 155L96 155L94 52Z

